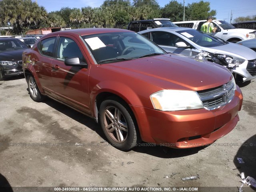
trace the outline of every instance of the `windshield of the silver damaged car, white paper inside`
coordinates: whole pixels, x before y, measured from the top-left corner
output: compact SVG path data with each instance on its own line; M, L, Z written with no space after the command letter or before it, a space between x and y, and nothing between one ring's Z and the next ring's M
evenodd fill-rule
M202 32L199 30L180 30L177 31L177 33L183 35L187 39L202 47L216 47L227 44L227 42L225 42L224 40L216 36L213 36L212 34Z

